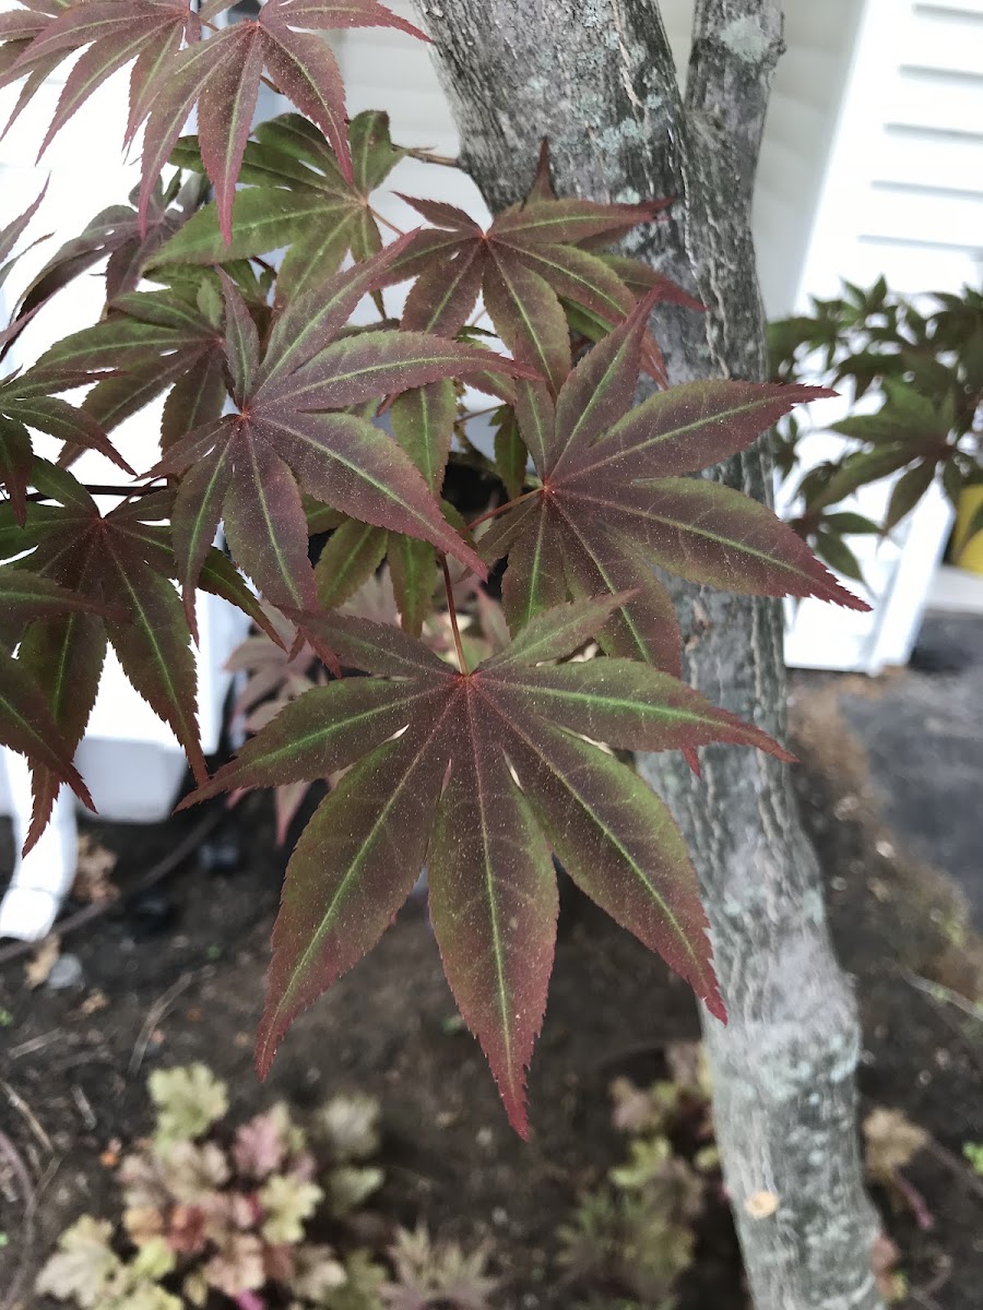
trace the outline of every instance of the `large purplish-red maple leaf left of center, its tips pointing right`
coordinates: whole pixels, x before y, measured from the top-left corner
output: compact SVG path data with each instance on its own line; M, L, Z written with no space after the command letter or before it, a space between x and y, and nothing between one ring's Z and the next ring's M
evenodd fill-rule
M360 523L429 541L486 574L396 441L366 418L337 413L440 377L528 372L425 333L342 335L351 310L410 238L291 300L274 316L265 352L245 304L222 275L239 414L190 432L152 470L183 474L173 529L186 597L223 520L233 558L269 601L316 609L300 485Z

